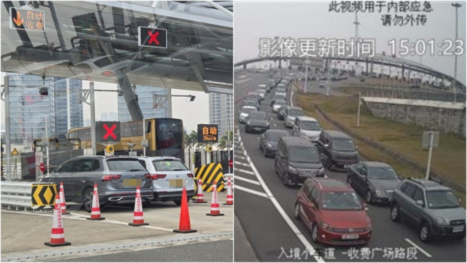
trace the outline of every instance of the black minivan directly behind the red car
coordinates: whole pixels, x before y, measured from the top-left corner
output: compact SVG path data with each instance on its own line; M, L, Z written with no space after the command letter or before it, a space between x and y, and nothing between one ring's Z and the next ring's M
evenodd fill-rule
M297 185L309 177L324 176L317 148L301 137L279 139L274 168L284 185Z

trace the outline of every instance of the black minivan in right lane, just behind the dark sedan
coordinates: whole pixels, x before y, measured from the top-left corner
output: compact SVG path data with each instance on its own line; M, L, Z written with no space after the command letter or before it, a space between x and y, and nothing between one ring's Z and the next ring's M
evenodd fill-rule
M347 170L348 165L358 163L358 151L354 139L338 130L323 130L317 144L323 165L328 170Z

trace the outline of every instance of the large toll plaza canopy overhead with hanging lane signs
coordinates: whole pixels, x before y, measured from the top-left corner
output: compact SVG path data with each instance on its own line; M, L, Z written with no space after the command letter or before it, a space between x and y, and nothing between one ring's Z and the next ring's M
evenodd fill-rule
M232 1L2 5L3 72L117 83L129 109L137 104L135 84L232 91Z

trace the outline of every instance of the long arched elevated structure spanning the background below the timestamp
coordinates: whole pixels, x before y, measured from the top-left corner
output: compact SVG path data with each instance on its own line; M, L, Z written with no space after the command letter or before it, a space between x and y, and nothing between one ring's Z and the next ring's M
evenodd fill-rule
M253 64L256 62L262 62L262 61L277 61L278 62L278 67L282 67L282 61L288 62L291 59L293 60L302 60L303 64L305 64L305 60L308 58L306 57L281 57L281 56L271 56L271 57L260 57L260 58L250 58L247 60L242 60L240 62L236 62L234 64L234 67L243 67L243 69L247 68L247 65ZM417 72L420 74L424 74L426 76L431 76L433 78L436 78L437 80L446 80L450 83L455 82L455 87L457 89L460 89L462 91L466 91L466 84L460 82L459 80L454 80L452 76L449 76L445 73L442 73L440 71L437 71L431 67L428 67L426 65L422 65L418 62L414 62L412 60L408 60L405 58L396 58L393 56L385 56L383 54L375 54L374 57L372 58L365 58L365 57L345 57L345 56L328 56L328 57L322 57L322 58L312 58L312 59L322 59L323 60L323 67L328 71L330 68L330 64L333 61L348 61L348 62L360 62L360 63L365 63L365 71L367 73L372 73L374 70L374 65L380 65L380 66L385 66L385 67L395 67L398 68L402 71L402 76L408 76L407 78L411 78L411 73Z

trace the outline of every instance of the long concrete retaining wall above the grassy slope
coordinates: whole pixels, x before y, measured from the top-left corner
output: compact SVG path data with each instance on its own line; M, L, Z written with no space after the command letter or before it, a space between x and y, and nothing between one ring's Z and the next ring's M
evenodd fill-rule
M427 130L455 133L466 137L466 104L394 98L362 98L369 111L402 124L415 124Z

